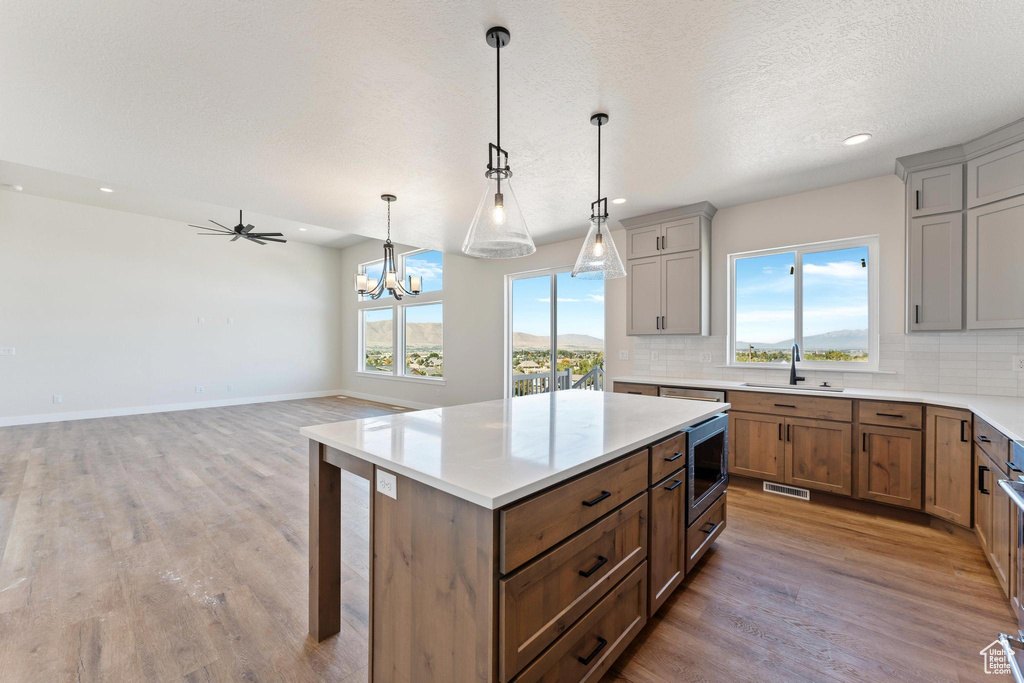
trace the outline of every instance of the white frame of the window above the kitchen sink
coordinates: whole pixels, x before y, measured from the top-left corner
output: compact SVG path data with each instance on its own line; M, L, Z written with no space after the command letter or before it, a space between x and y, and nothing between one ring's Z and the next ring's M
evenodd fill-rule
M734 368L773 370L788 368L790 364L750 362L736 360L736 261L773 254L794 255L794 339L804 349L804 255L824 251L838 251L855 247L867 248L867 362L857 360L799 360L798 367L806 370L848 373L879 372L879 236L869 234L842 240L788 245L772 249L759 249L729 254L729 331L726 335L726 365Z

